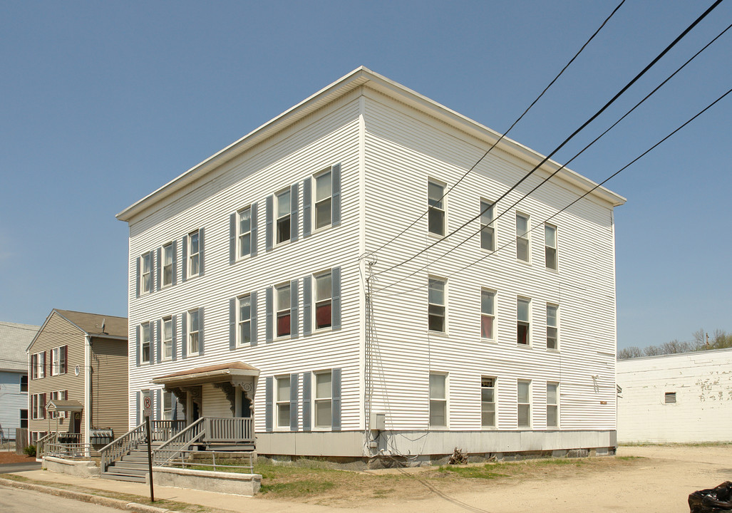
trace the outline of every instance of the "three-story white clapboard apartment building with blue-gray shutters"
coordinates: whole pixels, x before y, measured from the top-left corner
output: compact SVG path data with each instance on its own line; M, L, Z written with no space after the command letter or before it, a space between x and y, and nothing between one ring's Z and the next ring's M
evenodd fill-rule
M118 214L130 426L149 390L275 457L612 450L624 198L561 211L595 185L564 170L509 208L549 161L470 221L542 160L504 139L440 199L497 139L361 67Z

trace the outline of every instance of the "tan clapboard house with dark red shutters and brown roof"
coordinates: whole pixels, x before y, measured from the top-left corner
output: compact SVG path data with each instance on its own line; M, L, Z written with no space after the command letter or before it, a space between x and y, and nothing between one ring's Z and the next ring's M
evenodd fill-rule
M31 442L99 449L127 431L127 318L53 309L27 352Z

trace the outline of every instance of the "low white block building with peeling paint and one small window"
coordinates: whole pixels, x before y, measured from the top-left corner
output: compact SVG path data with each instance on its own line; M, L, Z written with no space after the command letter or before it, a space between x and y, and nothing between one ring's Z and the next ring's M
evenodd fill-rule
M731 441L732 348L619 360L621 443Z

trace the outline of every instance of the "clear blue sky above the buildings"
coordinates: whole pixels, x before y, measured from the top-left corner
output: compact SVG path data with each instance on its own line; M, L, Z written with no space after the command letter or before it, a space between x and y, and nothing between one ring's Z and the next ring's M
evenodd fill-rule
M114 215L365 65L503 132L618 1L1 1L0 321L127 315ZM510 137L548 154L712 1L627 0ZM684 38L564 162L732 23ZM732 31L570 167L601 181L727 91ZM618 345L732 331L732 96L608 187Z

